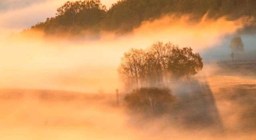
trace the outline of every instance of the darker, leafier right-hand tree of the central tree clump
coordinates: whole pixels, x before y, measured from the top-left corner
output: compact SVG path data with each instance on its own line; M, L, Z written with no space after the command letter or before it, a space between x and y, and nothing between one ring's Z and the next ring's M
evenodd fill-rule
M161 73L168 78L180 79L182 77L189 77L195 75L198 71L202 70L202 58L198 53L193 53L191 48L184 47L180 49L178 45L173 45L168 42L155 43L149 49L149 53L154 56L161 68ZM167 76L171 74L171 77ZM161 76L162 77L162 76Z

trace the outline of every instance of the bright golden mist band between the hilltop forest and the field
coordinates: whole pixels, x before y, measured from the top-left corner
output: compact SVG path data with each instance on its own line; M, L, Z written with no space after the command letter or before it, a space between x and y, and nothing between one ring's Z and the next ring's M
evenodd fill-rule
M190 16L164 16L144 22L125 35L102 33L98 39L61 39L42 32L16 35L2 32L0 87L58 89L113 93L122 87L117 74L120 58L130 48L146 48L156 41L204 51L235 34L250 18L190 22Z

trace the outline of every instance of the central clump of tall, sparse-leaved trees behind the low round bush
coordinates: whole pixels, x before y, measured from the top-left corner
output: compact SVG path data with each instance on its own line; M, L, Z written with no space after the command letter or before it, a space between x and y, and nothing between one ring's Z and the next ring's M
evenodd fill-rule
M162 86L172 79L195 75L202 68L202 58L191 48L158 42L146 50L124 53L118 72L126 87L138 88Z

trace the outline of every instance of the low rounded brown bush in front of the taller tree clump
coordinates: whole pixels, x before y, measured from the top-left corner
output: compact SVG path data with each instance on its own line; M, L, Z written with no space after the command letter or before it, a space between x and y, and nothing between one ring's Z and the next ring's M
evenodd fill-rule
M126 95L124 101L134 111L161 114L170 109L176 97L168 88L140 88Z

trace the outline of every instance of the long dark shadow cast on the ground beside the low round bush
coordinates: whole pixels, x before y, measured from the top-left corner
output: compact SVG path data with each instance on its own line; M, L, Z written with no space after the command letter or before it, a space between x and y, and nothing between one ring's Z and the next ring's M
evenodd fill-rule
M215 99L207 82L190 80L175 84L178 101L172 107L175 123L189 129L224 132Z

